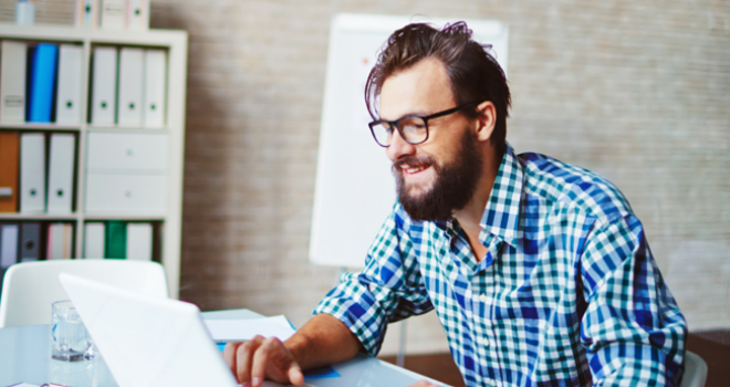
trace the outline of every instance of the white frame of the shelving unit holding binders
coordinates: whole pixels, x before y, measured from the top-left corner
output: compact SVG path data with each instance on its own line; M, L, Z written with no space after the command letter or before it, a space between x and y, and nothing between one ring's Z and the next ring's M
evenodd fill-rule
M82 119L79 126L55 124L7 124L0 123L0 130L74 133L77 136L75 171L75 212L54 213L0 213L0 221L65 221L75 224L73 257L82 257L84 245L84 223L86 221L124 220L161 223L160 263L165 266L169 294L178 297L180 278L180 233L182 212L182 160L185 140L185 95L187 74L187 32L171 30L149 30L145 32L126 30L80 29L59 25L17 25L0 23L0 40L28 42L74 43L83 46ZM166 82L166 125L163 129L143 127L93 127L86 119L90 108L90 82L92 48L97 44L163 49L167 51ZM1 53L0 53L1 54ZM86 213L86 160L90 133L117 134L166 134L167 169L165 208L161 213Z

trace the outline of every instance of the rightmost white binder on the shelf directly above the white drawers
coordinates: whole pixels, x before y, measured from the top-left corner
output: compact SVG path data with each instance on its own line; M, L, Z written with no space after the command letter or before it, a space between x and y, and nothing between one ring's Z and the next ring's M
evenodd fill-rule
M144 127L165 127L166 86L167 52L165 50L145 50Z

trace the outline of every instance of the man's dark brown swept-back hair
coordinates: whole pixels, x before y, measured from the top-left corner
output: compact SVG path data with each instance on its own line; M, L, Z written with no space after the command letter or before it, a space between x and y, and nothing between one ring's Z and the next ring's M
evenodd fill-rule
M457 106L483 101L494 104L497 122L490 143L498 153L504 151L510 88L502 67L471 39L471 33L463 21L446 24L440 31L425 23L413 23L394 32L365 84L365 104L373 119L377 117L377 100L385 80L424 59L434 57L446 67ZM470 119L479 115L476 107L462 113Z

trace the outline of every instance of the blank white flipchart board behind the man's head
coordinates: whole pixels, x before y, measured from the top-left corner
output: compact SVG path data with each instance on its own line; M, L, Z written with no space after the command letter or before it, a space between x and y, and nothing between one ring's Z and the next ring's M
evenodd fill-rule
M396 201L390 161L371 135L365 106L367 75L378 50L397 29L413 22L440 28L463 20L472 38L492 44L507 73L508 28L490 20L429 19L341 13L332 19L324 86L310 261L363 266L367 249Z

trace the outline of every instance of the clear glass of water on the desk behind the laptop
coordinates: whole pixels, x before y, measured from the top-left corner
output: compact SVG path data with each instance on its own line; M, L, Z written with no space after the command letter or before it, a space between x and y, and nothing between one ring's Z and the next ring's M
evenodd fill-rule
M94 342L71 301L53 303L51 324L52 358L63 362L94 358Z

